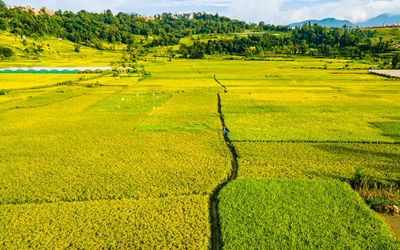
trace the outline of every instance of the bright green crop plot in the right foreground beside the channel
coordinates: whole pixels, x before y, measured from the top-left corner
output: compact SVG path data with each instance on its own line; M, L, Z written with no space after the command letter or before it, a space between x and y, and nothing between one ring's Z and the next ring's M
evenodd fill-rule
M219 200L224 249L399 248L348 184L242 179Z

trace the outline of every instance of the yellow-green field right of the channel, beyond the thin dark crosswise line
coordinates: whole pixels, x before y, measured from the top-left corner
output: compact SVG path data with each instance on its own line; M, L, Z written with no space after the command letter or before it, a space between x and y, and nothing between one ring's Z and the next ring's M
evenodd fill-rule
M217 79L228 89L221 97L230 138L374 142L398 139L376 126L392 122L391 117L400 111L397 81L370 75L366 70L293 68L294 64L310 63L246 62L240 68L237 62L218 64ZM231 75L220 72L227 71L227 67L232 67Z

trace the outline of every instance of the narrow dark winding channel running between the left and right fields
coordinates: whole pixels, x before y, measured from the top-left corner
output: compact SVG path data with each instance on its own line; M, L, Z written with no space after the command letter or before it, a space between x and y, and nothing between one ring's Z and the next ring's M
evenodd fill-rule
M216 80L216 79L215 79ZM217 80L216 80L217 81ZM218 82L219 83L219 82ZM220 83L219 83L220 84ZM223 86L222 84L220 84ZM223 86L225 88L225 86ZM226 88L225 88L226 91ZM211 220L211 249L222 249L222 233L221 233L221 224L220 224L220 217L218 214L218 195L220 191L228 185L229 182L234 181L237 178L238 172L238 162L237 162L237 154L235 147L232 144L232 141L229 139L227 131L227 127L225 125L224 116L222 115L221 111L221 96L218 93L218 115L219 119L221 120L222 129L224 131L224 140L225 144L229 149L229 153L231 155L231 162L232 162L232 170L228 179L225 180L223 183L219 184L218 187L214 190L210 197L210 220Z

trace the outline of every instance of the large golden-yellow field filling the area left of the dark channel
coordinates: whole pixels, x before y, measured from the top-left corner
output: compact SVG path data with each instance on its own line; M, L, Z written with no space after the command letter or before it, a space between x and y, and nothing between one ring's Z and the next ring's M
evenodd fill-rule
M231 167L215 92L113 81L2 104L1 244L210 244L209 196Z

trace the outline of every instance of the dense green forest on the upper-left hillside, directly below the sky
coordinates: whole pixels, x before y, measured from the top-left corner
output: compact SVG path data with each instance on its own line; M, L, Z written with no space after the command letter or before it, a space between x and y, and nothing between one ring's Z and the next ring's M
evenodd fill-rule
M195 13L194 18L189 20L164 13L154 20L146 20L125 13L114 15L110 10L104 13L82 10L76 14L56 11L55 15L50 15L42 9L40 15L36 15L23 7L8 9L4 4L0 6L0 30L9 30L21 36L53 35L87 45L95 44L99 40L129 44L133 42L133 35L156 35L165 38L160 43L154 43L158 46L168 41L176 43L177 39L193 34L226 34L247 29L262 30L263 27L231 20L218 14Z

